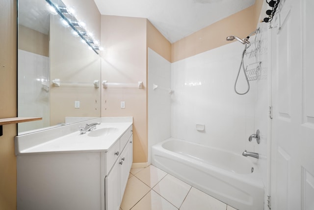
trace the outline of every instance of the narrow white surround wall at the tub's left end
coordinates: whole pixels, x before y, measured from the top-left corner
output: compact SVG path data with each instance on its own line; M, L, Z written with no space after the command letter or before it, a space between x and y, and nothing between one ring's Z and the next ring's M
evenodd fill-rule
M171 63L148 49L148 162L152 146L171 136ZM153 90L153 84L160 88Z

